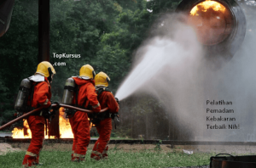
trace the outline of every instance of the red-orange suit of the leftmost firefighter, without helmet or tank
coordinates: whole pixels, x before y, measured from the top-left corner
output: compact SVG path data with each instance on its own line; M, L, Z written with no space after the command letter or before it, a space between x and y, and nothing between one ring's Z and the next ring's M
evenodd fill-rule
M36 82L32 83L32 85L35 84ZM44 81L39 82L34 87L32 107L38 108L38 105L41 105L44 108L48 108L51 104L50 98L51 92L49 81L46 77L44 77ZM22 162L22 165L25 167L38 164L39 153L41 148L43 148L45 124L45 119L42 115L30 115L26 120L32 132L32 140L29 147L27 148L25 158Z

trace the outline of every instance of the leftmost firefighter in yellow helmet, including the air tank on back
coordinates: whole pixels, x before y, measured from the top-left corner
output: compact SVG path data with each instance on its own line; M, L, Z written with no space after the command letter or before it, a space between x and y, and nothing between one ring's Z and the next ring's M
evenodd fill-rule
M55 69L52 64L44 61L38 64L38 69L34 76L22 80L20 84L15 103L17 111L26 113L32 109L44 107L43 110L35 112L26 118L32 132L32 140L22 162L25 167L39 164L39 153L43 148L45 118L53 115L50 103L50 84L54 74Z

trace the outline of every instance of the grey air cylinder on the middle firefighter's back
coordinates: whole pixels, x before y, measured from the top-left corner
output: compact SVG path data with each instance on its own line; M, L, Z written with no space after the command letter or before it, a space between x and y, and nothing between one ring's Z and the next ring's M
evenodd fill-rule
M73 95L76 83L72 77L68 78L64 87L64 93L62 97L62 104L71 105L73 102Z

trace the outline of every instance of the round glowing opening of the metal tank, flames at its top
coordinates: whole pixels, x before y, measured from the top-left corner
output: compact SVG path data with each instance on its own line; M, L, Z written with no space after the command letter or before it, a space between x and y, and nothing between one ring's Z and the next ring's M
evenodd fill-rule
M232 16L223 4L207 0L191 9L188 24L194 28L203 45L223 42L232 30Z

